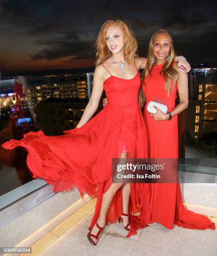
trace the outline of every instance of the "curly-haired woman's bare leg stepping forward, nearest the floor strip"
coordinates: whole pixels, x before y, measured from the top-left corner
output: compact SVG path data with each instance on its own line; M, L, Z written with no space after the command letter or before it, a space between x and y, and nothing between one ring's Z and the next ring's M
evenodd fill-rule
M122 153L120 158L126 158L127 153ZM120 161L121 162L121 161ZM102 195L102 204L100 208L100 215L99 218L97 219L97 223L100 227L105 226L105 217L108 211L108 208L111 205L112 199L117 193L117 190L123 186L124 183L112 183L110 188ZM95 224L91 230L92 235L96 235L97 232L99 231L99 228L97 228L97 225ZM91 239L94 242L97 242L97 240L93 237Z

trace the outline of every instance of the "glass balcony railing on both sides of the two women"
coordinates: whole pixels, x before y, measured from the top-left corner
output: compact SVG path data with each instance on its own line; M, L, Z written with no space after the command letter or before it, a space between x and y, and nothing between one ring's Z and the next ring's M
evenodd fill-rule
M90 99L92 86L93 73L2 78L0 144L19 140L29 131L42 130L51 136L74 128ZM105 91L95 115L102 110L104 97ZM0 147L0 208L46 184L32 179L26 156L22 148L9 151ZM189 107L179 115L179 157L217 159L217 69L193 69L189 76Z

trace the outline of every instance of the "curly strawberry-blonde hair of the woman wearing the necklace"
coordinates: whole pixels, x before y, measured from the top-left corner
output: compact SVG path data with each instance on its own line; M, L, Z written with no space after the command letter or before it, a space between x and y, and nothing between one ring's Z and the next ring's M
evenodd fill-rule
M133 35L133 31L131 27L127 25L123 20L107 20L102 25L100 33L97 36L97 41L96 41L97 53L96 53L95 66L103 63L112 55L111 51L108 49L106 45L106 40L105 40L107 29L112 25L119 26L123 31L125 61L127 61L127 63L130 64L134 62L135 57L138 57L137 41L135 39L135 36Z

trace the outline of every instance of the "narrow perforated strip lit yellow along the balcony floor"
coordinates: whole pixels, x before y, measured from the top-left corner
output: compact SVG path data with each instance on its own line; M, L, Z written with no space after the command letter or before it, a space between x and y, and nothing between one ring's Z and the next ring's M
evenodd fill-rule
M31 253L22 253L20 256L35 256L38 255L43 249L45 249L49 244L54 242L59 236L61 236L66 230L71 228L75 223L77 223L81 218L83 218L88 212L90 212L95 206L97 202L97 197L92 198L79 208L76 212L72 213L68 218L66 218L63 222L61 222L58 226L52 229L45 236L40 238L36 243L32 246Z

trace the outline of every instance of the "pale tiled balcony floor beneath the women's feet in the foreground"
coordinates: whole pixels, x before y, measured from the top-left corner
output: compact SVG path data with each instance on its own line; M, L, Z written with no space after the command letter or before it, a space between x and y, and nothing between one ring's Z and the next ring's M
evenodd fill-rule
M122 223L110 224L100 236L97 246L87 240L94 210L44 249L39 256L216 256L216 230L191 230L175 226L168 230L161 224L138 230L136 236L125 238L128 231ZM212 218L216 223L217 218Z

